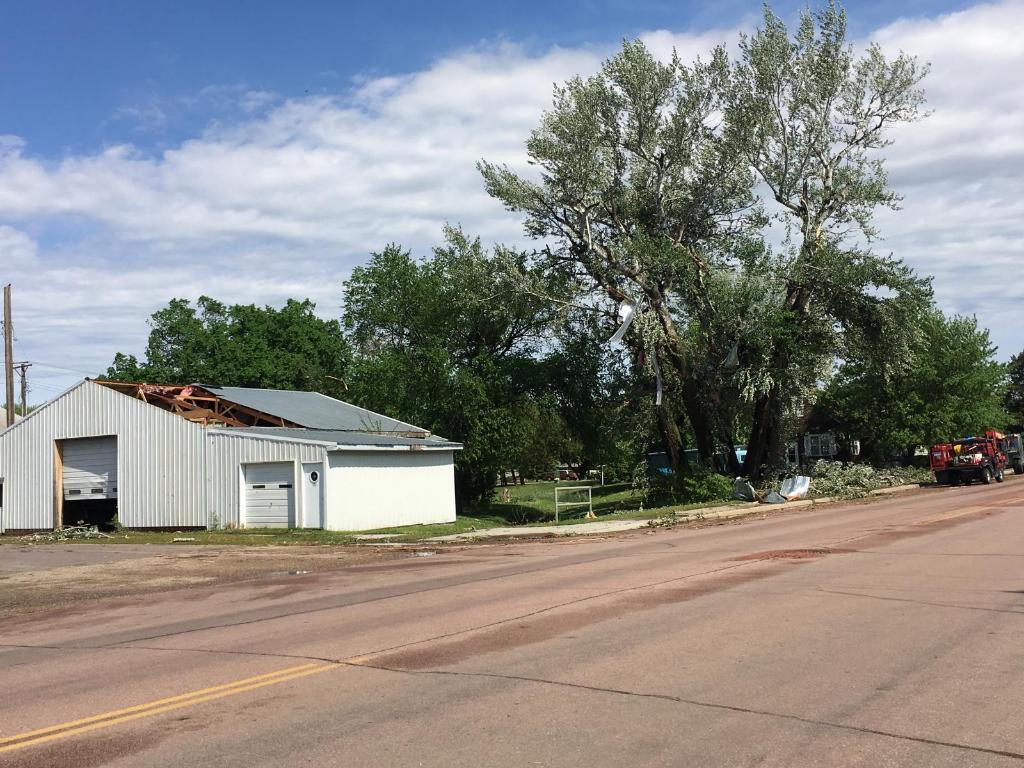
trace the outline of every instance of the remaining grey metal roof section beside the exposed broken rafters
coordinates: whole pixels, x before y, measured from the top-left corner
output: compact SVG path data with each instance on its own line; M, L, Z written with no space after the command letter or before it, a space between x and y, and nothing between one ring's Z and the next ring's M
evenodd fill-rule
M373 411L336 400L319 392L293 392L281 389L248 389L195 384L230 402L278 416L308 429L334 429L359 432L384 432L427 436L430 431L391 419Z

